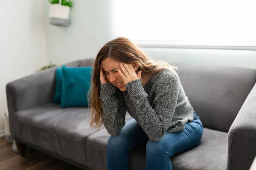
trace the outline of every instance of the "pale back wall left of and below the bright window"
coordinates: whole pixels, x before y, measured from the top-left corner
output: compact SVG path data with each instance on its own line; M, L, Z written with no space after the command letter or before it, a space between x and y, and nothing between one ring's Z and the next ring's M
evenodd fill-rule
M48 15L49 3L45 2ZM56 64L96 57L102 45L115 38L111 32L113 1L73 0L73 2L70 26L52 26L47 19L48 56L49 60ZM143 50L156 60L256 68L256 51L173 48L143 48Z

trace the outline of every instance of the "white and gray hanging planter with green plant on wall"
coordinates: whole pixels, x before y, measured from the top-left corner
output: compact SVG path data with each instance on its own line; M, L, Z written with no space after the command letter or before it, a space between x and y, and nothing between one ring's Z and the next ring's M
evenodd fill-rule
M72 0L49 0L49 22L56 26L68 26Z

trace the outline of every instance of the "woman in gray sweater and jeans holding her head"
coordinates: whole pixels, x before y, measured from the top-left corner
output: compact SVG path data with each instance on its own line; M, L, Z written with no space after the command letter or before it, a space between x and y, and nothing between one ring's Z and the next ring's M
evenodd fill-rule
M172 170L170 157L195 147L203 125L174 67L155 62L118 37L99 51L93 66L91 127L105 125L108 170L128 170L129 153L146 145L146 170ZM133 117L125 123L126 109Z

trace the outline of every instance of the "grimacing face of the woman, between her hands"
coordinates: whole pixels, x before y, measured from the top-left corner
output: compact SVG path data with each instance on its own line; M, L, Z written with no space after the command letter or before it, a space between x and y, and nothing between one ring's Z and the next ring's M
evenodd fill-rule
M119 61L111 57L107 57L101 62L101 65L104 71L103 73L106 74L108 81L119 88L120 91L126 91L125 83L117 71L118 69L121 70L119 63Z

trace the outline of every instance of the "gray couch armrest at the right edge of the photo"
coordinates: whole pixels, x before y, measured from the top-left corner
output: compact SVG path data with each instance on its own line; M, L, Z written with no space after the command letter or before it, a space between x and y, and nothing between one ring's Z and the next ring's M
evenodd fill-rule
M256 156L256 84L228 133L227 170L249 170Z

